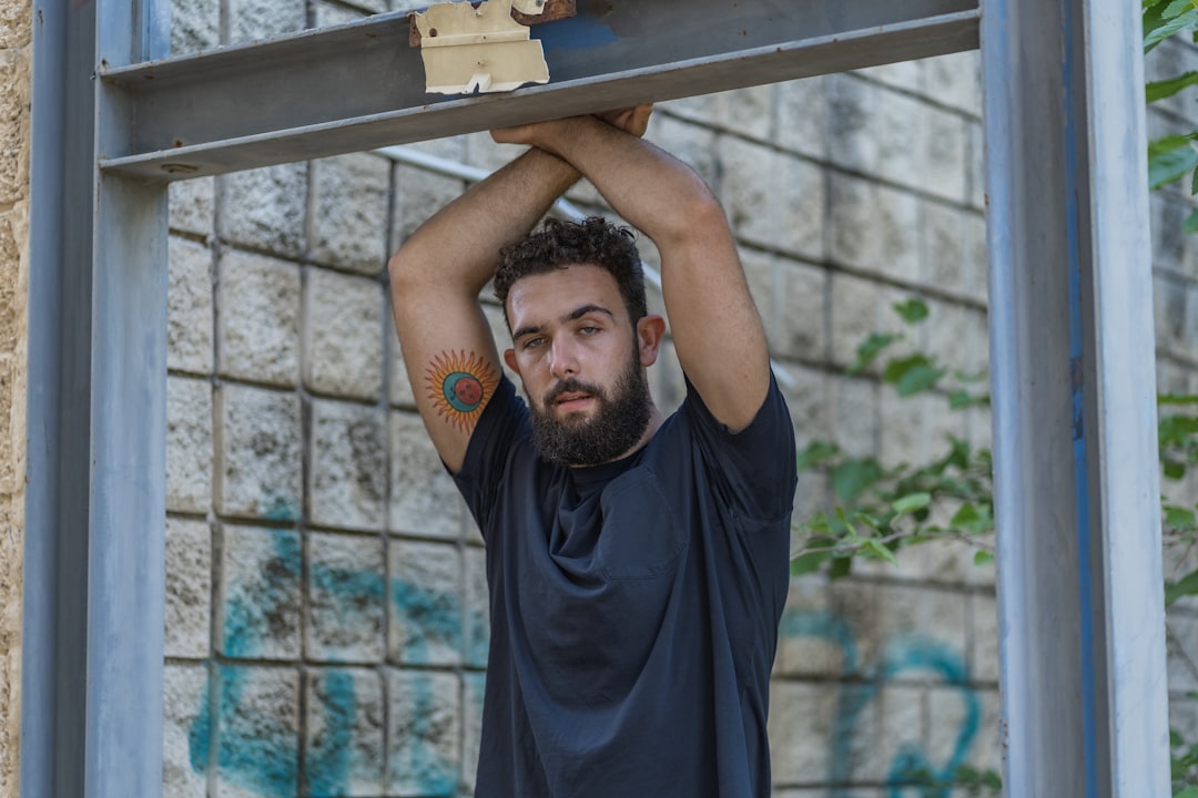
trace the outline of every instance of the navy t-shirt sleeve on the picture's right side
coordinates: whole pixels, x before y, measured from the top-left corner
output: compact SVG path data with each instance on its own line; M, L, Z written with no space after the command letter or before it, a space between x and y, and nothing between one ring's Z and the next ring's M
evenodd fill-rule
M682 410L692 421L712 479L737 511L762 524L788 522L798 483L794 426L773 373L757 415L739 432L712 415L690 380Z

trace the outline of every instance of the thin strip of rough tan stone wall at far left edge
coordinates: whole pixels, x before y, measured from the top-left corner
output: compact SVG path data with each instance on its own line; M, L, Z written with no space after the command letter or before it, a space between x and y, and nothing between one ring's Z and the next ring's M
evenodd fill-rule
M0 798L17 798L31 5L0 0Z

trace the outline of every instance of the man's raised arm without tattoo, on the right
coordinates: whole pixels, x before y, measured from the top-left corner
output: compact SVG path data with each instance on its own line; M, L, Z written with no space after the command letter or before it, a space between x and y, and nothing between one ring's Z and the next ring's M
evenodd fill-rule
M570 163L630 224L657 244L666 313L678 360L713 415L749 425L769 388L761 317L727 218L689 166L647 141L593 117L570 117L492 133Z

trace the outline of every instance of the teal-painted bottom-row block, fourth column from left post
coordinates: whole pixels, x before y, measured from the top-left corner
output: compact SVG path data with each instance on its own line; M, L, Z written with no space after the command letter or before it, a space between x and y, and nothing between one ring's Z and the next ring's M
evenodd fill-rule
M452 797L461 781L460 682L452 674L389 670L391 793Z

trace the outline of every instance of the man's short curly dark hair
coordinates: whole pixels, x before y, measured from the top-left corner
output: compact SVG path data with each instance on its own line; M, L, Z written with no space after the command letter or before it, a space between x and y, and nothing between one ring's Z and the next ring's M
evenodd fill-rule
M495 296L504 306L504 317L508 293L516 280L580 264L598 266L616 279L634 327L648 313L645 273L633 231L601 217L589 217L581 223L546 219L540 230L500 250Z

